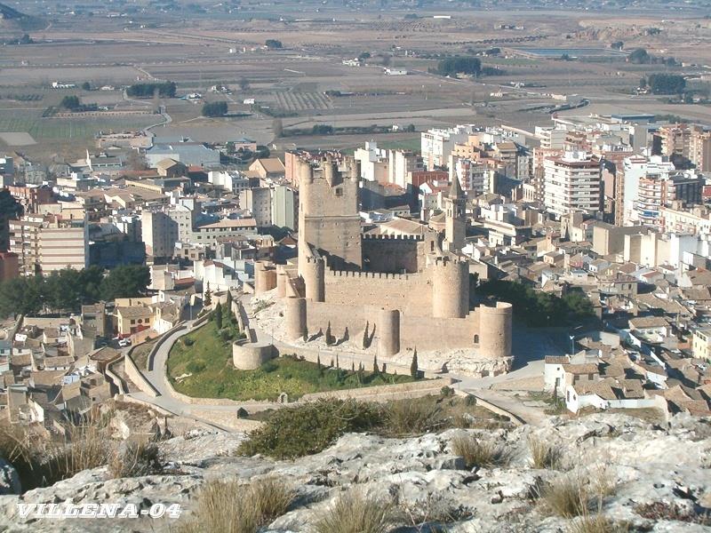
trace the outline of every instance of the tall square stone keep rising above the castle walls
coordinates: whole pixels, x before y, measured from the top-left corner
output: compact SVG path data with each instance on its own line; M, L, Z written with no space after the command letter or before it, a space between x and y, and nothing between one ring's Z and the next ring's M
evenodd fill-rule
M336 270L360 270L363 266L361 219L358 214L360 169L353 158L341 166L325 157L313 166L298 163L299 273L308 265L312 249Z

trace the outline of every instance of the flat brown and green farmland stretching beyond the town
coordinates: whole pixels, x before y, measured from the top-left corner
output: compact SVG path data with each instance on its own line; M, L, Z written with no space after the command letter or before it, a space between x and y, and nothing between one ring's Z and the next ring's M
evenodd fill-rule
M590 100L585 113L659 110L711 120L706 106L632 94L640 78L653 72L698 76L694 83L705 86L704 67L635 65L626 61L626 53L610 48L612 41L622 41L626 51L643 47L651 54L675 56L679 62L709 64L711 20L691 8L673 16L615 12L611 18L600 11L468 12L453 3L443 10L451 19L436 20L427 8L409 18L406 12L343 10L330 2L318 6L323 14L315 18L315 8L308 2L259 9L245 5L242 12L223 16L211 15L211 5L204 4L204 12L194 16L148 10L131 23L93 17L87 24L79 15L55 17L51 27L32 35L35 44L4 46L0 131L27 135L0 136L0 147L12 148L12 142L21 141L30 155L75 154L76 140L86 144L97 131L161 122L151 116L42 118L45 108L56 106L68 94L117 110L164 106L172 121L156 129L160 136L209 142L247 136L260 144L274 140L277 153L295 146L353 147L363 139L342 134L273 139L274 116L283 118L285 130L317 124L334 128L413 124L418 131L454 123L528 128L547 123L549 114L543 107L560 102L553 95L576 95ZM504 23L510 28L499 28ZM270 38L282 41L284 49L267 50L263 44ZM428 72L443 56L491 48L499 53L481 59L483 67L499 68L498 76L453 79ZM585 52L576 60L556 57L562 50L590 49L595 53ZM523 57L526 50L538 53ZM362 54L362 66L343 64ZM405 69L408 75L387 76L388 66ZM156 80L175 82L179 97L198 92L204 101L227 100L230 116L204 119L202 102L180 98L137 102L125 99L120 90L48 89L53 81L120 89ZM224 85L229 93L212 93L212 85ZM245 99L254 99L255 106L244 104ZM376 137L381 143L405 144L417 137L403 135ZM27 144L32 140L28 136L37 144Z

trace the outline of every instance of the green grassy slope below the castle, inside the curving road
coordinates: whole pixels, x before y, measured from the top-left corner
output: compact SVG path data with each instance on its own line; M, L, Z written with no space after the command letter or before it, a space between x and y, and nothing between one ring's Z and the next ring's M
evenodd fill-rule
M185 338L194 344L187 346ZM283 392L293 399L308 393L411 381L410 376L373 375L368 371L359 384L357 375L350 370L341 370L339 378L338 371L324 369L321 376L316 363L288 357L268 362L258 370L236 370L232 366L231 342L219 337L214 322L181 338L168 358L168 376L175 390L203 398L276 400ZM190 362L193 364L188 369ZM190 373L189 378L175 381Z

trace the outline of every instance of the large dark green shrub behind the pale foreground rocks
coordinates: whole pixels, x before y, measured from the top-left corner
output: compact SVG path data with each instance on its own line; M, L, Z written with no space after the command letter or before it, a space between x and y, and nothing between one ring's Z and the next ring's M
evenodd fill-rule
M319 400L277 410L243 442L238 453L257 453L279 459L318 453L340 435L379 425L377 405L354 400Z

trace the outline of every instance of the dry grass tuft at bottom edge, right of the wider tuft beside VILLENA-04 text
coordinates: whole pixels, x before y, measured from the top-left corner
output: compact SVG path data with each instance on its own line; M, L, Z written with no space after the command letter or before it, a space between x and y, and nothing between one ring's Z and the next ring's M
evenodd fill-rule
M393 520L392 505L354 490L341 493L314 529L316 533L386 533Z

